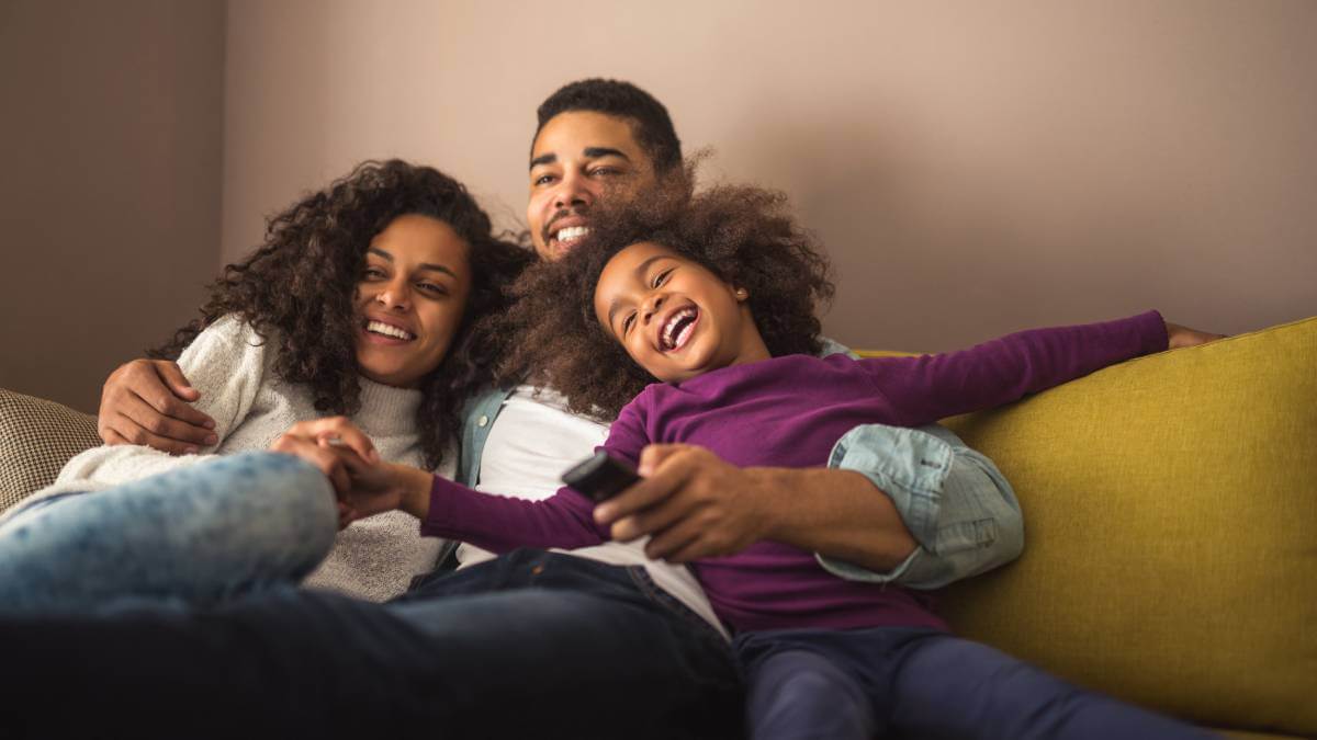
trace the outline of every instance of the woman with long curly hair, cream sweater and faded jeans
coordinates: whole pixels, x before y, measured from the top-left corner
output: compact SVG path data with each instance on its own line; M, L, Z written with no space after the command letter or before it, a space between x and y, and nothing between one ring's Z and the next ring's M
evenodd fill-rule
M333 474L325 450L281 435L348 415L385 458L450 475L461 403L487 383L497 349L473 320L502 307L502 284L531 258L491 237L466 190L431 167L366 162L303 198L161 350L182 350L215 444L183 457L125 445L71 460L0 524L0 610L119 596L207 603L316 565L312 586L400 594L433 569L441 544L415 520L392 512L335 541L333 491L315 467L219 457L274 444Z

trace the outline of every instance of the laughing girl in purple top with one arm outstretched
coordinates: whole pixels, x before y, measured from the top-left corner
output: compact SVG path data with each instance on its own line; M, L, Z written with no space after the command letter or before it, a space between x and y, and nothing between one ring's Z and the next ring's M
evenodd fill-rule
M1164 350L1168 330L1197 336L1148 312L940 356L818 358L826 261L780 196L752 188L598 225L590 245L525 279L511 363L544 367L577 410L616 412L603 449L632 465L647 445L680 442L738 466L823 466L856 424L915 427L1010 403ZM498 552L610 537L570 489L529 503L396 467L390 479L382 498L429 535ZM760 541L691 568L736 635L755 737L1202 736L955 639L925 596L834 578L797 548Z

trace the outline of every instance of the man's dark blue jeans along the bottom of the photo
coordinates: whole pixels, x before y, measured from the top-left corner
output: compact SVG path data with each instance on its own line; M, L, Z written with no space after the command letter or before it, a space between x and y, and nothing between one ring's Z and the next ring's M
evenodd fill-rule
M726 641L644 569L543 550L389 604L3 618L0 664L3 737L732 737L743 706Z

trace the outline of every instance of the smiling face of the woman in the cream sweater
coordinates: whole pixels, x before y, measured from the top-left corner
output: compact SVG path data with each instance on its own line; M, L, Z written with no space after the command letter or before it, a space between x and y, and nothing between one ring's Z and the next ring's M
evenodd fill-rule
M394 219L370 240L357 284L357 366L404 388L439 367L471 292L466 240L429 216Z

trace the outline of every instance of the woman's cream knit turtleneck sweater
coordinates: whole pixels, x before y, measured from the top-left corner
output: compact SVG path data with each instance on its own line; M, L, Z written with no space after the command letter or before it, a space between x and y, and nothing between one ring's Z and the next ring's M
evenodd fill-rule
M202 392L194 406L215 419L217 445L182 457L146 446L92 448L68 461L55 483L28 502L58 492L104 490L219 454L263 450L294 423L325 416L315 410L306 387L274 374L274 359L275 352L248 324L234 316L219 319L178 359L192 387ZM352 421L370 436L383 460L420 467L420 391L362 378L361 411ZM456 458L456 450L445 454L436 473L452 478ZM338 533L333 550L306 585L385 600L407 590L414 575L429 573L441 545L441 540L421 537L419 523L407 514L371 516Z

